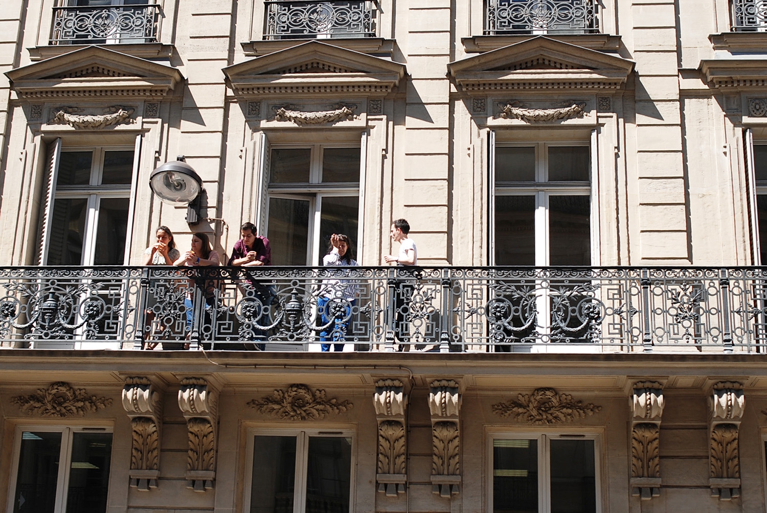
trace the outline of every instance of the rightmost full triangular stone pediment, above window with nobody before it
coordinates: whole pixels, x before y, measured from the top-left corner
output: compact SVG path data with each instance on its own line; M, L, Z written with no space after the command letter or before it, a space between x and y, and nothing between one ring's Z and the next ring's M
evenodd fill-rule
M448 64L465 91L489 89L617 89L634 61L538 36Z

